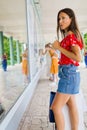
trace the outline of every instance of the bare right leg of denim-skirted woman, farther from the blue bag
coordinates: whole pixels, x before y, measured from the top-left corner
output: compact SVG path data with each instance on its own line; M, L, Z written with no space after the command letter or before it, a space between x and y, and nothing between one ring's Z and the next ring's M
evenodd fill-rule
M75 95L70 97L70 99L67 102L67 105L69 107L71 128L72 130L78 130L79 116L78 116L78 109L76 105Z

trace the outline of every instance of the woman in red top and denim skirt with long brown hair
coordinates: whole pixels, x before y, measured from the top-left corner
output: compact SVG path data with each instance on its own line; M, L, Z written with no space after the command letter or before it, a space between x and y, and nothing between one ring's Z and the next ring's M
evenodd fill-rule
M63 40L59 42L59 32ZM80 73L78 70L81 61L80 50L83 48L82 37L77 27L75 14L72 9L65 8L57 16L58 40L53 47L61 52L59 60L59 83L56 96L52 103L57 130L65 129L62 108L69 107L71 129L78 130L79 117L75 94L79 93Z

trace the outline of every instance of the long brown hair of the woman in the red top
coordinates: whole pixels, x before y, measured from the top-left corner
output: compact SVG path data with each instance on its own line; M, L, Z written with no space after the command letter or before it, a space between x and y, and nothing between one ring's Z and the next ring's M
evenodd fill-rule
M80 31L79 31L79 28L78 28L78 25L77 25L77 22L76 22L76 17L75 17L74 11L70 8L64 8L64 9L62 9L58 12L58 15L57 15L57 36L58 36L58 40L59 40L59 31L61 32L62 37L65 37L65 31L61 30L60 26L59 26L59 15L60 15L61 12L66 13L69 16L69 18L72 19L70 26L67 28L67 31L72 31L76 35L78 40L82 40Z

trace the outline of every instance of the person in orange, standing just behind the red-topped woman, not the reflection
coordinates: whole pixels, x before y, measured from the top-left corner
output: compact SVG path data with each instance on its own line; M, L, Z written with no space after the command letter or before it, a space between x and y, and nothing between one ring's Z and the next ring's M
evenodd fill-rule
M57 82L58 80L58 54L56 50L52 47L51 43L45 45L45 50L42 54L49 52L51 57L51 67L50 67L50 78L49 80Z

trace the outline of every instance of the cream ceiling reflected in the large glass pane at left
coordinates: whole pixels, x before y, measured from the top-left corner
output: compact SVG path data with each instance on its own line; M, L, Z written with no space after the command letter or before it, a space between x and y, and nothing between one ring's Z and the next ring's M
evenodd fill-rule
M26 42L25 0L0 0L0 31Z

